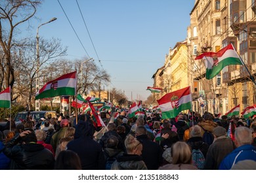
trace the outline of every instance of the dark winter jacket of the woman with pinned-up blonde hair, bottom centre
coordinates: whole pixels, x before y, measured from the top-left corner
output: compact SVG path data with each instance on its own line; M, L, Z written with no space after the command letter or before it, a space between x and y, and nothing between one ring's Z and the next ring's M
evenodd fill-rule
M111 167L112 170L147 170L142 157L136 154L123 154L117 157Z

